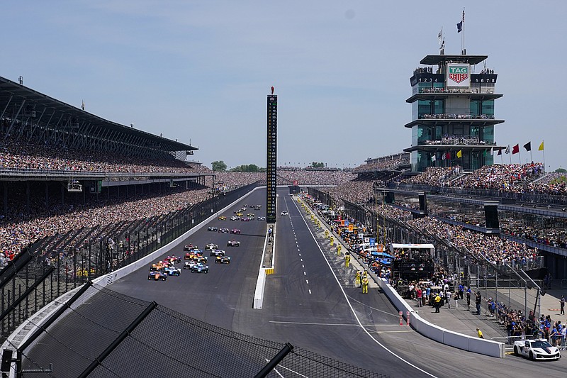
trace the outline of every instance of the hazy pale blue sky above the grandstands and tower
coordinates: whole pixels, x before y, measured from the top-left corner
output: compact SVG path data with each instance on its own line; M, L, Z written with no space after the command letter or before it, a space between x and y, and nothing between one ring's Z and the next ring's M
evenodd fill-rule
M466 51L488 55L503 94L496 143L526 162L531 142L543 162L544 141L546 169L567 168L565 0L3 0L0 76L191 143L208 167L266 166L274 86L278 165L357 167L410 147L409 79L441 28L461 52L464 7Z

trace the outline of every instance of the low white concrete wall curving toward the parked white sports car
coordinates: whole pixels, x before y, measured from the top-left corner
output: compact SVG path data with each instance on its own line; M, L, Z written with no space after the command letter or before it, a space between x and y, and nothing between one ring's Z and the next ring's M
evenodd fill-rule
M315 212L313 213L315 214L315 216L317 216L317 218L319 218L322 224L325 224L324 220L322 220ZM343 243L342 239L339 238L339 235L332 232L332 230L330 231L333 235L335 235L335 238L339 240L339 243ZM352 257L359 260L357 255L352 255ZM469 352L475 352L481 355L504 358L504 343L498 343L492 340L463 335L462 333L456 333L454 331L446 330L442 327L436 326L421 318L421 316L417 315L417 313L415 313L408 302L406 302L405 299L403 299L400 294L398 294L398 291L395 291L395 289L393 289L393 287L388 284L388 281L386 279L382 279L376 276L376 274L374 273L371 273L370 277L372 277L372 279L374 279L378 286L381 287L382 291L384 292L384 294L386 294L386 296L388 296L388 299L390 299L395 308L397 308L398 311L403 311L403 317L406 319L406 321L406 314L409 311L410 324L412 328L414 328L421 335L424 335L425 337L435 340L439 343L452 346L454 348L468 350Z

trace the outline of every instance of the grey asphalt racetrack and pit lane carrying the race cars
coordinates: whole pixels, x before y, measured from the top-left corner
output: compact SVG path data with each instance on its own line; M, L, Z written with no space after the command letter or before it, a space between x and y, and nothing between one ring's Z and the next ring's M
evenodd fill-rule
M147 268L142 268L108 289L156 301L215 326L291 343L391 377L566 376L565 358L542 363L511 355L505 359L476 355L399 326L398 312L385 294L376 288L362 294L354 287L354 268L344 267L344 260L318 238L317 230L303 218L302 210L286 191L279 194L279 212L287 210L289 216L278 216L276 269L266 279L262 309L253 309L252 299L265 221L220 221L215 217L206 226L240 228L242 233L215 233L204 227L182 243L199 248L215 243L232 257L231 263L224 265L214 264L214 258L209 257L208 274L184 270L180 277L154 282L147 280ZM262 204L260 211L245 214L265 216L265 191L254 191L218 215L230 218L232 210L242 204ZM240 247L227 247L231 239L240 240ZM182 245L167 255L181 255Z

